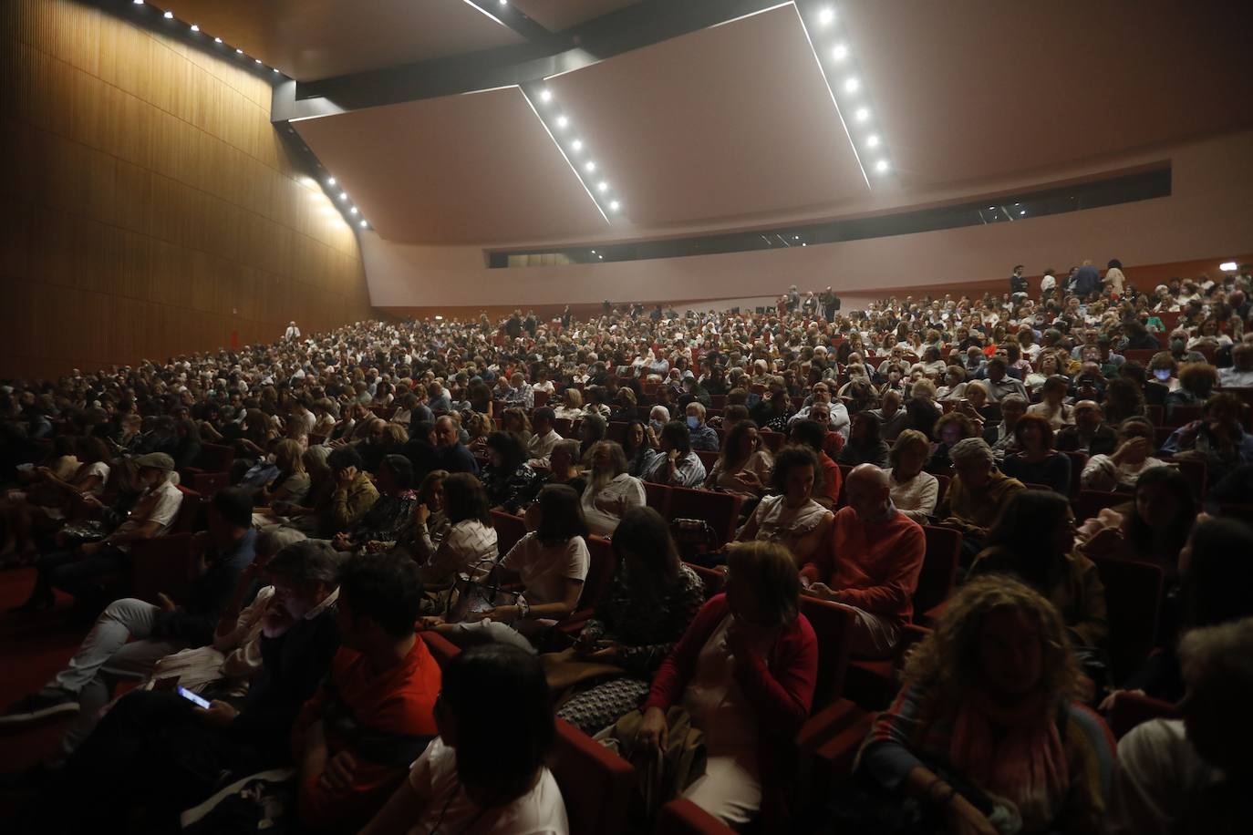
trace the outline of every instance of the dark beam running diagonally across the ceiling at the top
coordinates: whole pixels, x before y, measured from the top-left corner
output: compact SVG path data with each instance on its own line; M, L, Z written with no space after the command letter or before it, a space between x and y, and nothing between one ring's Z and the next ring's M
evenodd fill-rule
M778 5L786 4L644 0L560 33L549 33L528 19L540 31L529 29L525 44L318 81L279 84L274 89L271 121L526 84Z

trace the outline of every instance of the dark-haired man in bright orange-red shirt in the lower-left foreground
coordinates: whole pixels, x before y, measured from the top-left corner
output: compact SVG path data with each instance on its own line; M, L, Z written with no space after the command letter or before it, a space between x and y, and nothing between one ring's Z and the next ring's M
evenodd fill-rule
M341 572L342 645L292 729L303 827L363 826L439 734L440 667L413 632L421 597L407 558L361 556Z

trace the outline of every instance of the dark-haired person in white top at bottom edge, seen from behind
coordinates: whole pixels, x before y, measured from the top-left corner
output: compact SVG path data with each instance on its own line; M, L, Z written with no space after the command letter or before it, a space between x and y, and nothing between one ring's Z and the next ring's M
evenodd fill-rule
M361 835L569 832L561 790L544 765L555 730L535 657L505 645L459 653L444 669L435 721L440 736Z

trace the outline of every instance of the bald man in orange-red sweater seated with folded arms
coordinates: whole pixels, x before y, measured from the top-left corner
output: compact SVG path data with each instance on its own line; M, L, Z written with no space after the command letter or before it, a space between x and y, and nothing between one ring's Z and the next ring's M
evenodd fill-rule
M836 513L831 546L801 568L801 583L804 593L852 611L856 655L888 657L913 617L926 537L892 505L887 473L875 464L853 467L845 496L848 506Z

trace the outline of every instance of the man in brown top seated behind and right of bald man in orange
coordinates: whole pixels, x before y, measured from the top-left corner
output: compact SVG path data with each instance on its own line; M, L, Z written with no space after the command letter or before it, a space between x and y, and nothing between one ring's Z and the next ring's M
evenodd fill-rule
M952 481L936 508L940 525L962 533L962 553L982 550L987 530L1016 493L1026 489L1017 478L996 468L992 448L982 438L964 438L949 451Z

